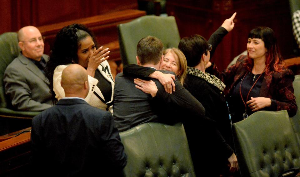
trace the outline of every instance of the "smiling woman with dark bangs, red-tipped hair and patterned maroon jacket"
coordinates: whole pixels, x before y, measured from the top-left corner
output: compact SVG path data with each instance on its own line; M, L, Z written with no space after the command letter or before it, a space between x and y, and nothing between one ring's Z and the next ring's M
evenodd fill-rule
M297 112L292 82L294 74L287 69L277 48L274 32L269 27L250 31L248 55L223 72L208 62L207 72L226 85L232 123L247 118L255 111L287 110L290 117Z

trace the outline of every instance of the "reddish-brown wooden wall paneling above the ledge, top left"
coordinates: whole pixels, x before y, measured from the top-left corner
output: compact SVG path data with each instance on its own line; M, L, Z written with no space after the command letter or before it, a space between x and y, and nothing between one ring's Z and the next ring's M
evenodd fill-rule
M136 0L2 0L0 34L28 25L43 26L137 8Z

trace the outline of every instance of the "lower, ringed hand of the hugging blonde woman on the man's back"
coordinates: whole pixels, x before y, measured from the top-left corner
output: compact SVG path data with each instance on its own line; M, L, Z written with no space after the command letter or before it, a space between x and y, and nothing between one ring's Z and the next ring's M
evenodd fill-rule
M158 89L153 80L143 80L143 79L134 79L134 84L137 84L135 87L142 90L145 93L151 94L152 97L155 97Z

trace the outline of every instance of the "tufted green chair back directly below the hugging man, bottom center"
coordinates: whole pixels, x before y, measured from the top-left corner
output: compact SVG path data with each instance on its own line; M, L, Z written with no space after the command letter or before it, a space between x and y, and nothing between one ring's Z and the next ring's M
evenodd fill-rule
M124 176L196 176L181 123L144 123L120 137L128 155Z

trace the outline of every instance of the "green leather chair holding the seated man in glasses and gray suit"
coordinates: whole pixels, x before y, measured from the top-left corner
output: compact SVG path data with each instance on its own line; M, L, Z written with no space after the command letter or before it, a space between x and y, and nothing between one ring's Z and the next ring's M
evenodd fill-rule
M31 119L40 112L12 110L11 101L6 98L3 75L6 67L15 59L21 49L18 46L17 33L7 32L0 35L0 118Z

